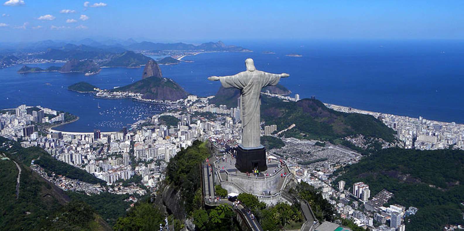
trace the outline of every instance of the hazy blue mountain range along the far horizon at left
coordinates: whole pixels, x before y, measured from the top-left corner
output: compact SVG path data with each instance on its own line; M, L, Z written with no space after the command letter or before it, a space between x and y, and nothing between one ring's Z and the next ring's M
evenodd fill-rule
M252 52L239 46L225 45L221 41L200 45L188 43L137 43L129 40L106 40L97 42L90 38L80 41L45 40L36 43L0 43L0 68L11 67L19 63L45 61L94 60L101 67L138 68L146 63L149 57L139 54L161 52L172 55L173 51L183 54L183 51L208 52ZM161 64L175 64L174 58L161 60Z

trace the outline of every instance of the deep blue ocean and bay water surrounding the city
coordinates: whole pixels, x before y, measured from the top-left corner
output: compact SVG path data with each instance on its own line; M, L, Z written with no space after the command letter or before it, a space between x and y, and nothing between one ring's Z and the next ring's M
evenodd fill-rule
M187 56L178 65L161 66L198 96L214 95L220 86L206 78L245 70L253 58L259 70L289 73L281 79L300 97L324 103L402 116L464 123L464 41L305 41L229 42L253 53L205 53ZM264 53L265 52L265 53ZM267 53L274 54L267 54ZM287 56L298 54L301 57ZM31 64L46 68L57 64ZM62 64L58 64L62 65ZM67 90L86 81L111 89L141 79L142 68L103 68L94 76L80 73L16 73L21 65L0 69L0 108L41 105L80 117L58 127L62 131L117 131L146 116L160 113L156 104L131 99L97 99ZM97 108L100 105L100 109Z

